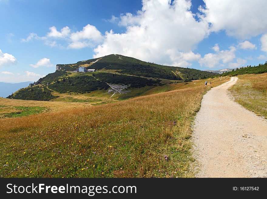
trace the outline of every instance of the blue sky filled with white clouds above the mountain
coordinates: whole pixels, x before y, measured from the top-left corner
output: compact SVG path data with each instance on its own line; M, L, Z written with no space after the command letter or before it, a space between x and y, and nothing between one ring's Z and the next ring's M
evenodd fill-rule
M267 60L266 0L0 0L0 81L110 54L218 70Z

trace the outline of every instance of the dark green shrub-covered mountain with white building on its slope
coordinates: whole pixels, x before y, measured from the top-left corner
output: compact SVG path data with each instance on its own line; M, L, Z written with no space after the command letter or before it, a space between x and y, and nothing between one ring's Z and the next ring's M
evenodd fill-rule
M95 71L77 72L79 67ZM158 65L113 54L74 64L58 64L54 73L8 98L40 101L77 101L79 98L81 101L83 95L123 100L143 95L156 86L214 75L207 71Z

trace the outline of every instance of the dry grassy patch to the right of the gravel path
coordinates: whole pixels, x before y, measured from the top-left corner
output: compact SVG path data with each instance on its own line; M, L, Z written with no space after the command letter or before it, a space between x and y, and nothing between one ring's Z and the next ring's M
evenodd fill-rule
M239 75L230 91L236 102L267 119L267 73Z

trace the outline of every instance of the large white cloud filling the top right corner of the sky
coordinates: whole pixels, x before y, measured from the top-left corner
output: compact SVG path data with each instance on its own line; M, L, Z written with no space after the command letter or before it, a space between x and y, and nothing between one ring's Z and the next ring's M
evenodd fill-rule
M211 31L225 30L230 36L250 38L267 32L267 1L204 0L202 19L211 23Z

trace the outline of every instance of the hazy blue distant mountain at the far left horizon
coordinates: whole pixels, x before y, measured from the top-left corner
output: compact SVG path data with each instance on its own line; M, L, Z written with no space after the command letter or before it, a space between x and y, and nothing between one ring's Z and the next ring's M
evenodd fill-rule
M21 83L7 83L0 82L0 97L7 97L8 95L14 93L15 91L25 88L29 86L29 84L33 83L32 81L25 81Z

